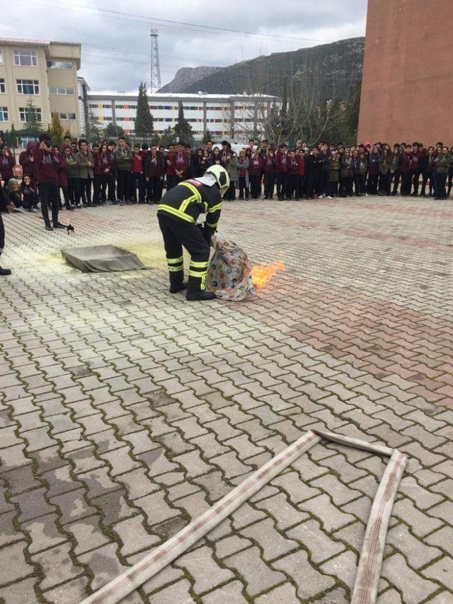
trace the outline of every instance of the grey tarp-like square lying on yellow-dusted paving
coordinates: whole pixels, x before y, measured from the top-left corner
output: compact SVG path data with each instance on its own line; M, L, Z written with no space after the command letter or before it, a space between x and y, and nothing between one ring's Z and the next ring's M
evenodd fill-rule
M116 245L92 245L62 250L66 262L83 272L132 271L146 269L139 257Z

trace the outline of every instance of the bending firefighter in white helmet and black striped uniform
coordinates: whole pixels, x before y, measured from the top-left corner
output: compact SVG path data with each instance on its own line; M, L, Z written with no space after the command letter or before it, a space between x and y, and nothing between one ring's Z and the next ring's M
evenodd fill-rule
M212 300L205 291L210 241L219 222L222 197L229 187L229 175L221 165L212 165L200 178L179 182L159 202L157 217L164 237L170 292L187 289L188 301ZM204 225L197 224L206 214ZM190 254L188 281L184 281L183 247Z

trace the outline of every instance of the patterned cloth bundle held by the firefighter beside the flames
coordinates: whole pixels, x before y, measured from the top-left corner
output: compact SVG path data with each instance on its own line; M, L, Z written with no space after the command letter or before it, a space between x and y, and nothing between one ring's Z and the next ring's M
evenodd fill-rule
M207 289L217 298L243 300L253 292L252 267L246 252L234 241L212 237L214 254L207 269Z

